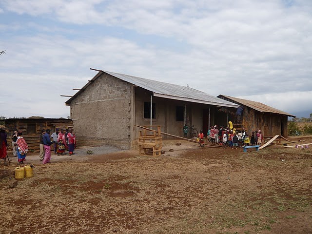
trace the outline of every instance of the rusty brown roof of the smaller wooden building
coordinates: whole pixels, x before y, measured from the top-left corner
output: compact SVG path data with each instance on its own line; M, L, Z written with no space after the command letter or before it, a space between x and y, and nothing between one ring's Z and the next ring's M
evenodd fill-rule
M250 108L253 108L256 111L259 112L268 112L268 113L275 113L275 114L280 114L280 115L285 115L285 116L291 116L291 117L295 117L294 115L291 115L287 112L284 111L280 111L278 109L275 109L271 106L267 106L261 102L257 102L257 101L251 101L251 100L246 100L246 99L241 99L241 98L234 98L234 97L230 97L230 96L226 96L226 95L219 95L218 97L224 97L224 98L228 98L231 99L237 103L240 103L242 105L248 106Z

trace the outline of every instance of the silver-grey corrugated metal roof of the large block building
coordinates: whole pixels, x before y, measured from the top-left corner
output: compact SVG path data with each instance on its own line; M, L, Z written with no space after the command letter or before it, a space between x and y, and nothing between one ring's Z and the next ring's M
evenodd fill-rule
M99 71L99 73L100 72L107 73L113 77L119 78L131 84L137 85L138 87L151 91L154 93L154 96L156 97L185 100L191 102L212 104L217 106L238 107L238 105L234 104L233 102L214 97L212 95L206 94L204 92L201 92L199 90L190 87L160 82L146 78L134 77L109 71ZM92 80L98 77L99 74L97 74ZM82 90L85 89L89 85L89 83L86 84L82 88ZM78 91L78 93L80 91ZM78 95L78 93L76 93L72 98L67 100L66 104L69 104L76 97L76 95Z

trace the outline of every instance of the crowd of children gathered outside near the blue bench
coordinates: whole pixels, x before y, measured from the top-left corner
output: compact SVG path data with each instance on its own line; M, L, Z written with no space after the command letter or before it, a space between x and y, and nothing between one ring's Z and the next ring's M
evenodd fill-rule
M235 128L223 128L222 126L220 129L218 129L216 125L212 126L208 130L207 136L208 141L210 141L212 144L223 145L223 148L229 146L232 147L232 149L237 149L237 147L242 146L249 146L250 144L261 145L263 139L261 130L253 131L251 137L249 137L249 134L245 130L239 131Z

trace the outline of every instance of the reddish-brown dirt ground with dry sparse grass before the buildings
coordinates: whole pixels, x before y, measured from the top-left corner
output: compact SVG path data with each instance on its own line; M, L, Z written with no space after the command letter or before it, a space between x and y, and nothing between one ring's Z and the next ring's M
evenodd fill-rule
M34 177L15 188L14 176L0 179L0 233L312 234L312 145L164 149L52 155L45 165L28 155ZM0 172L14 171L11 159Z

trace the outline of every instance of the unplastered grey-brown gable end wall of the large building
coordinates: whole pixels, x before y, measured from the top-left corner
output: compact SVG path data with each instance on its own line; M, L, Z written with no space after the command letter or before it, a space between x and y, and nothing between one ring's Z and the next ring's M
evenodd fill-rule
M72 101L78 144L130 148L132 86L104 73Z

